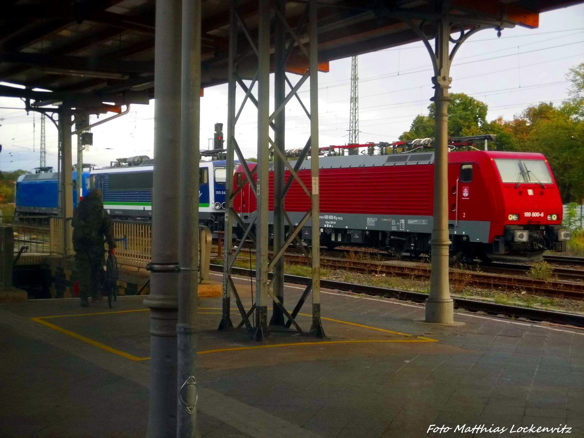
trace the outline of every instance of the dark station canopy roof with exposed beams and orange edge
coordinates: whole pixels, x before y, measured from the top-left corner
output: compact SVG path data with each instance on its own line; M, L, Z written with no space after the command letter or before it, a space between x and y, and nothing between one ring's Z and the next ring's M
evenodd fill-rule
M159 0L163 1L163 0ZM538 14L581 1L451 0L451 15L468 27L537 27ZM319 68L346 58L419 40L399 18L430 23L439 0L318 0ZM201 86L227 82L230 0L202 1ZM302 22L307 2L286 2L291 29ZM257 37L258 1L239 0L238 12ZM430 29L427 27L425 30ZM431 32L431 31L430 31ZM308 41L304 26L298 33ZM0 96L107 112L116 105L154 98L155 0L3 0L0 14ZM291 37L288 34L288 40ZM244 72L256 65L244 34ZM247 46L247 47L246 47ZM287 69L301 73L308 60L297 43ZM50 91L50 92L47 92ZM113 106L104 103L113 103Z

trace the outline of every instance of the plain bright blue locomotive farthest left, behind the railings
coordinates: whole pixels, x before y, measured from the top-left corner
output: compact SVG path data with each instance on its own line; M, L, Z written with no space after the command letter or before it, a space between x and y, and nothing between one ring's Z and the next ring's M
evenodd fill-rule
M81 194L89 193L89 172L82 173ZM59 196L57 172L29 173L16 181L15 216L57 215ZM73 207L77 207L77 171L73 171Z

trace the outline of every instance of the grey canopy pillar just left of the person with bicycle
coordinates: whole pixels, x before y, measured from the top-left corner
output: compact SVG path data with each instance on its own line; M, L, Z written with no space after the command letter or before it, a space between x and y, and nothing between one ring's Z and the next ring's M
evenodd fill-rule
M59 136L61 137L61 206L63 218L63 255L73 255L73 161L71 151L71 110L59 112Z

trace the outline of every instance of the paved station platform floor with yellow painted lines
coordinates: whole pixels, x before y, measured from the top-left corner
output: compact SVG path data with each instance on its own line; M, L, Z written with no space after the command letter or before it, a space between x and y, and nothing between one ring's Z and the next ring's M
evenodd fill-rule
M287 285L286 302L300 293ZM325 339L273 331L263 343L218 332L221 298L200 298L201 436L584 436L583 330L463 312L430 325L421 305L321 298ZM145 436L143 300L0 304L0 436Z

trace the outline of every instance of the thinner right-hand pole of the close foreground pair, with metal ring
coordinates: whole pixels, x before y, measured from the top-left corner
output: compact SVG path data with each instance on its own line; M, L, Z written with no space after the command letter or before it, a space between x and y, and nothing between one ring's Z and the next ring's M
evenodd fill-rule
M176 436L197 436L201 0L183 0L180 117L178 405Z

